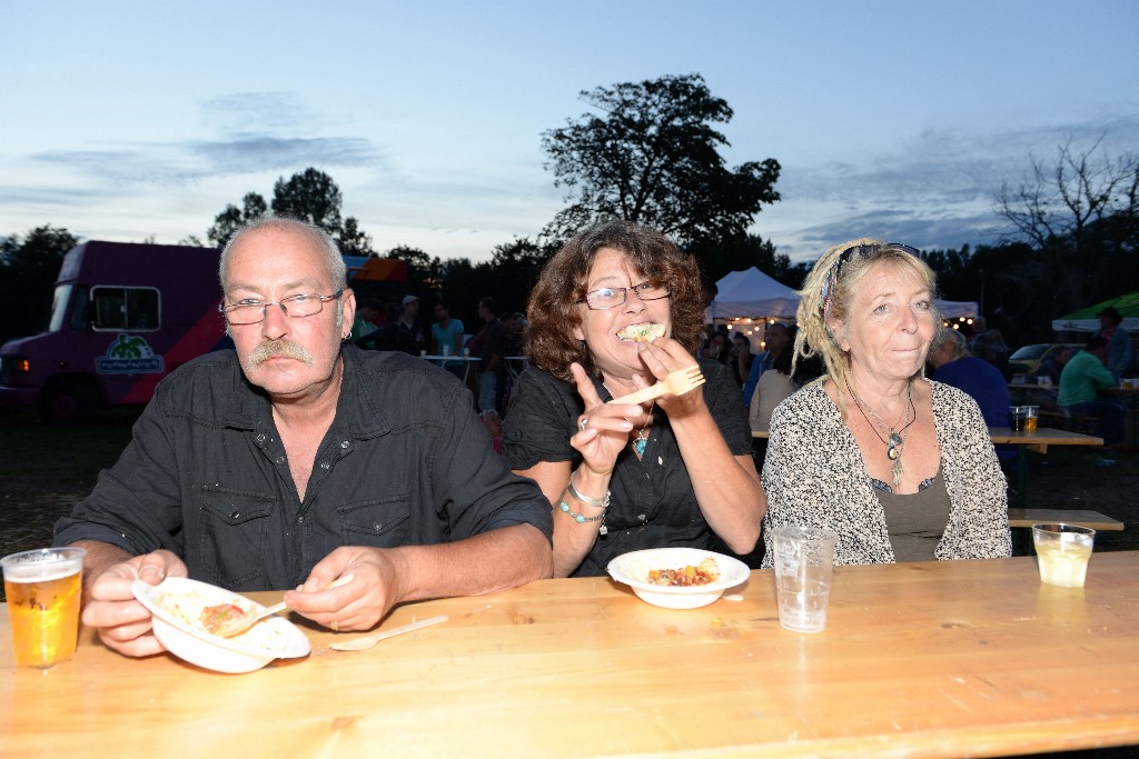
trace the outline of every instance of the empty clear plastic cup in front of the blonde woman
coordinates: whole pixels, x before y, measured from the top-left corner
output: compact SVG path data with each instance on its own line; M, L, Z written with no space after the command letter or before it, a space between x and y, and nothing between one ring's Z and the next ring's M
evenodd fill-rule
M795 633L821 633L838 534L822 527L777 527L771 537L779 625Z

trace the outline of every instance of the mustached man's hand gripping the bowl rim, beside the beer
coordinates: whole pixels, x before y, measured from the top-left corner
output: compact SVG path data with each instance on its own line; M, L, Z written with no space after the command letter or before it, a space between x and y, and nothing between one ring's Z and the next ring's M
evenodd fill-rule
M166 577L186 577L186 564L170 551L155 551L112 564L91 583L83 607L83 624L99 640L128 657L148 657L165 651L150 628L150 612L131 594L137 579L157 585Z

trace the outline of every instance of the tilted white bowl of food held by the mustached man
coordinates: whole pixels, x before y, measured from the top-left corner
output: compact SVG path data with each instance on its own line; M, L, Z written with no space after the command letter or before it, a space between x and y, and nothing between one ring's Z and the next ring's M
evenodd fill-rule
M191 665L219 673L252 673L273 659L306 657L309 638L284 617L268 617L233 637L208 632L203 614L232 604L244 613L264 609L226 588L185 577L167 577L158 585L136 580L134 597L150 611L154 634L171 653Z

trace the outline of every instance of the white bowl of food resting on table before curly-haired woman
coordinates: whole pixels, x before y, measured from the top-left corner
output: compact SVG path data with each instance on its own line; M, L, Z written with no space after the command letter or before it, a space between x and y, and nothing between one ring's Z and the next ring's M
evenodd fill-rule
M700 548L647 548L609 562L609 576L642 601L665 609L698 609L730 587L743 585L751 569L743 561Z

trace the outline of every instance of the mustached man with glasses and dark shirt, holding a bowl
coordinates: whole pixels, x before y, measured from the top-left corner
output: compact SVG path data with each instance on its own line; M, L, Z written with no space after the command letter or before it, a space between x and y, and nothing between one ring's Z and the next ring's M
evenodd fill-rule
M165 379L118 462L56 526L58 545L88 550L83 621L108 646L162 650L136 578L300 586L290 609L359 630L400 602L550 575L549 503L506 470L466 388L345 343L355 299L331 238L254 223L220 277L236 350Z

